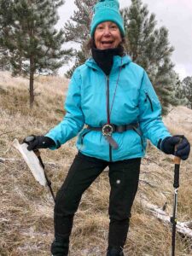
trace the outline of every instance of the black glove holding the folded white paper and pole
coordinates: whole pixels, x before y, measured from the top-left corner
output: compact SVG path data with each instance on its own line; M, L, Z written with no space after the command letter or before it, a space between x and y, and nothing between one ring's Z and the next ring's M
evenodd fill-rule
M27 149L29 151L35 150L38 148L49 148L49 147L55 146L55 142L51 138L45 137L45 136L35 136L35 135L26 137L23 140L23 143L28 144Z

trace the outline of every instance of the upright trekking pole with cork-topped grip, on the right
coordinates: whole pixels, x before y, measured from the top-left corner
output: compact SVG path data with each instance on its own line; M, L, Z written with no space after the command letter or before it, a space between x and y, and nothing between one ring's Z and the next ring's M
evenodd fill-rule
M180 138L179 143L181 143L182 138ZM177 146L175 148L177 150ZM175 256L175 240L176 240L176 225L177 225L177 190L179 187L179 169L180 169L181 159L178 156L174 157L174 204L173 204L173 212L171 217L171 224L172 224L172 256Z

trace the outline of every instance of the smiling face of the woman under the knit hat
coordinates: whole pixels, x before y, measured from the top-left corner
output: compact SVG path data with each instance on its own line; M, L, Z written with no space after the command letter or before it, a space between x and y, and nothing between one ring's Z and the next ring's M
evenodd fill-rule
M112 49L122 41L119 27L112 21L105 21L96 26L94 34L97 49Z

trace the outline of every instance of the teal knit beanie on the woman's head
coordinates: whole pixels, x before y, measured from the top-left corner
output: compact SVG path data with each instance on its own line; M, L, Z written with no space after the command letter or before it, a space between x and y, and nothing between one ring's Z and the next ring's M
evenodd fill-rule
M96 26L104 21L113 21L125 36L124 21L119 13L118 0L100 0L94 7L94 15L90 24L90 37L93 38Z

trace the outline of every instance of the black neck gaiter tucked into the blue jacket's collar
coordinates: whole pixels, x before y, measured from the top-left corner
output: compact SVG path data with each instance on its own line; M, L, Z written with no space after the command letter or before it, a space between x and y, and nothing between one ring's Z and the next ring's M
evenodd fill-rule
M114 55L123 55L122 47L113 48L113 49L96 49L91 48L92 56L96 64L102 68L102 71L108 76L113 67L113 56Z

